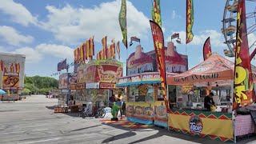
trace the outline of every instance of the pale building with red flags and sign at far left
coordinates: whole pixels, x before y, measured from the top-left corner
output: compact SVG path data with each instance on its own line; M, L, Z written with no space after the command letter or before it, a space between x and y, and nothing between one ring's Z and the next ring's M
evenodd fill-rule
M0 89L18 95L24 88L26 56L0 53Z

